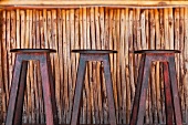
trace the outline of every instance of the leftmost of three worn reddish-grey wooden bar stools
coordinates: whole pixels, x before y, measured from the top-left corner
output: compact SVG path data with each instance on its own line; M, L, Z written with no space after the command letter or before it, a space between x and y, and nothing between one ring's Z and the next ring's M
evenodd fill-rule
M40 62L46 125L58 125L55 95L50 62L50 53L56 51L50 49L14 49L10 52L15 52L15 64L6 125L22 124L22 106L27 82L28 61L30 60Z

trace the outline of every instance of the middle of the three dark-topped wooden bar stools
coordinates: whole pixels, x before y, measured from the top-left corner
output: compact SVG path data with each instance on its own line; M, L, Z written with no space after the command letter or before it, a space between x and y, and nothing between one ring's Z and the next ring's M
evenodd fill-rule
M108 110L109 110L109 123L111 125L116 125L114 95L113 95L111 66L109 66L109 53L117 53L117 51L73 50L72 52L80 53L80 62L79 62L77 80L76 80L76 86L74 93L74 104L73 104L71 125L79 124L81 95L83 90L83 82L84 82L85 67L87 61L103 61L104 63L104 74L106 81L107 101L108 101Z

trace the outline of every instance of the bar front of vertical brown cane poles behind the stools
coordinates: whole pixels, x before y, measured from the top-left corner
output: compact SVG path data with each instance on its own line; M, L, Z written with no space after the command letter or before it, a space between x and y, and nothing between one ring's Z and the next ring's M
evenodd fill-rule
M79 55L72 49L112 49L113 91L117 123L129 123L142 49L177 49L177 79L184 122L188 123L188 8L166 9L12 9L1 10L0 114L4 121L14 54L10 49L55 49L51 54L60 123L70 123ZM41 77L30 62L23 122L44 123ZM81 123L108 123L103 64L87 64ZM163 67L152 65L145 123L165 123Z

